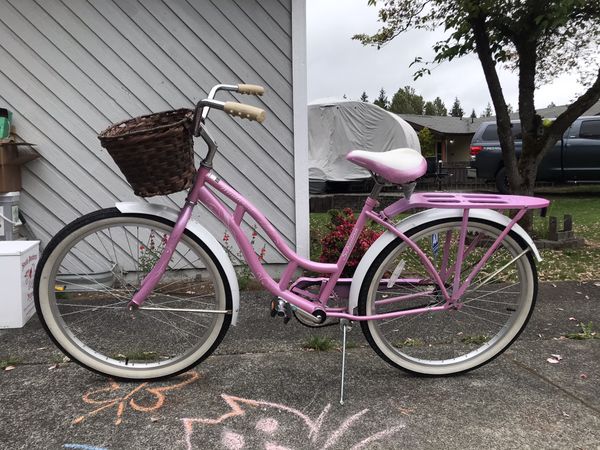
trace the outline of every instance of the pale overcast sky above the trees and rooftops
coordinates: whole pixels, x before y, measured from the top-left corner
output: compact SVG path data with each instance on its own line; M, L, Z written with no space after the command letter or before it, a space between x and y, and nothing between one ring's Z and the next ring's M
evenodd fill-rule
M439 96L448 110L458 97L465 115L473 108L481 115L490 96L476 56L445 62L431 75L413 81L415 67L409 64L417 56L431 60L432 44L441 34L411 31L380 50L351 39L357 33L374 33L379 27L377 8L367 6L367 0L307 0L309 102L344 95L358 100L363 91L373 101L382 87L391 100L399 88L410 85L425 100ZM516 110L516 76L503 71L501 82L507 102ZM536 107L570 103L582 90L576 77L565 75L536 92Z

